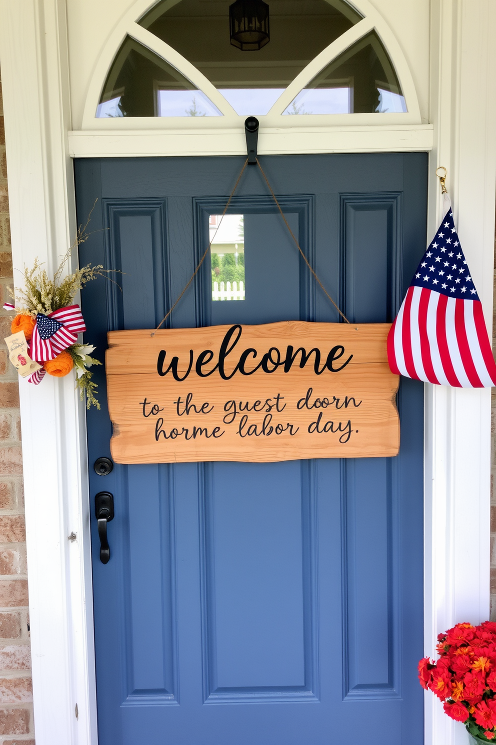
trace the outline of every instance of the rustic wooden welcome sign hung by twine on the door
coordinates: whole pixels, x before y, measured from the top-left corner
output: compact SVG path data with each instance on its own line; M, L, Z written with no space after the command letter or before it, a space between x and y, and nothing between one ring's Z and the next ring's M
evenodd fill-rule
M116 463L396 455L390 324L109 332Z

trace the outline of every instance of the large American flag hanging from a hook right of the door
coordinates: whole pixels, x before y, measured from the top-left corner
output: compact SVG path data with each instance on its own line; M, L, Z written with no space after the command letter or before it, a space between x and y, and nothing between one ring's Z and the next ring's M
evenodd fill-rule
M393 373L461 388L496 385L482 304L451 206L417 267L387 337Z

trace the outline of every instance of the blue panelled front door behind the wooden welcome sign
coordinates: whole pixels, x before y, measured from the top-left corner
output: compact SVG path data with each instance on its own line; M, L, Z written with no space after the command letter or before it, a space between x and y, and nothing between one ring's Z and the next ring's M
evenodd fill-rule
M152 329L208 245L242 159L86 159L88 340ZM323 285L356 322L391 321L425 250L427 156L267 156ZM338 321L263 178L245 171L245 299L214 301L210 257L175 328ZM231 262L232 263L232 262ZM117 287L120 285L122 289ZM402 380L398 457L115 466L103 368L88 412L100 745L419 745L423 388ZM99 559L94 495L115 498Z

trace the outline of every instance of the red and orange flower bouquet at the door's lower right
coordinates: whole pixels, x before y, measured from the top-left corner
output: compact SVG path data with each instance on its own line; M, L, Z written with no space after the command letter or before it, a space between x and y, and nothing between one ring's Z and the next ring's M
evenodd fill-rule
M457 624L437 641L437 662L419 662L422 688L472 737L496 745L496 623Z

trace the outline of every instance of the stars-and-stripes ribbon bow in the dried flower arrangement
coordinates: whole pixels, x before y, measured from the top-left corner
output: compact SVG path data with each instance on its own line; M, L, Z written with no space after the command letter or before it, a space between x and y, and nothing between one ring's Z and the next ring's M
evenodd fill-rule
M48 316L39 313L30 343L30 355L42 364L53 360L60 352L77 342L77 335L86 331L79 305L59 308Z

